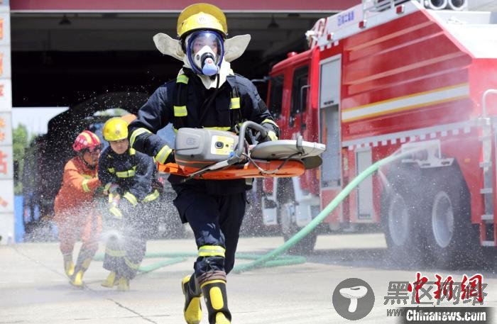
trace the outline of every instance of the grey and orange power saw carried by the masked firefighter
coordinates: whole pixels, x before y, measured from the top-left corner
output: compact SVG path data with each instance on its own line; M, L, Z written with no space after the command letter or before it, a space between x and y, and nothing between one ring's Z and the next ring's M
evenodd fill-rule
M239 136L222 130L180 128L175 139L176 163L158 164L158 171L188 179L298 177L322 164L326 146L302 140L275 140L249 145L247 128L266 137L266 129L246 121Z

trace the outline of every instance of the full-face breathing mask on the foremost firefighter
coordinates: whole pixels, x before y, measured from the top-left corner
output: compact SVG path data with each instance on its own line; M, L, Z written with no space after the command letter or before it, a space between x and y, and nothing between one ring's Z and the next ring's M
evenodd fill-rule
M222 36L210 30L188 35L187 57L195 73L212 77L219 72L224 57L223 43Z

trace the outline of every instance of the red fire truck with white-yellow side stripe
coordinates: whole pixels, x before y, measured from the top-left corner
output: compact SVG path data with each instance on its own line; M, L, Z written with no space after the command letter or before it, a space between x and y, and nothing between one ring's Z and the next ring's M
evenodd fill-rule
M416 150L363 181L329 228L376 226L399 259L446 265L496 246L497 14L421 2L367 0L322 18L310 50L271 69L282 138L327 145L319 170L265 180L263 221L285 238L371 164ZM300 250L314 245L311 234Z

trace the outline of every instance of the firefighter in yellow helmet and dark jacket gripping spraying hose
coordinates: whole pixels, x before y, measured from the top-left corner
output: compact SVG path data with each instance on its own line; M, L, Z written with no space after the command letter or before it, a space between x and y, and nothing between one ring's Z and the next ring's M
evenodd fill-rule
M159 196L152 187L156 169L151 157L129 147L124 119L110 118L102 133L110 146L100 156L99 179L108 196L106 221L116 231L107 241L104 269L110 273L102 286L128 291L146 252L146 208Z

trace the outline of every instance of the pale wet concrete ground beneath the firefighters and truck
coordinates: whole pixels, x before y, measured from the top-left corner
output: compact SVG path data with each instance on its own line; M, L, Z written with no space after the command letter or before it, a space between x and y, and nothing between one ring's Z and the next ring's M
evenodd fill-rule
M281 243L283 239L275 237L241 238L239 252L264 253ZM192 239L148 242L148 252L195 250ZM158 260L146 259L143 264ZM388 260L381 234L320 235L305 264L229 275L233 323L348 323L335 311L332 294L339 282L351 277L365 280L375 294L373 310L358 323L400 323L386 315L388 308L397 306L384 305L388 283L415 281L416 271L430 281L435 280L435 273L452 274L454 279L464 273L482 273L488 284L484 306L497 306L495 267L475 265L447 271L414 265L406 269ZM81 290L67 283L57 243L0 246L0 323L185 323L180 279L191 272L192 262L189 257L141 274L131 281L131 291L119 292L100 286L107 272L102 262L95 261ZM239 260L242 262L246 261ZM202 323L208 323L205 313Z

